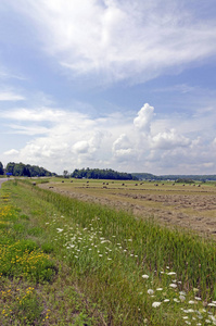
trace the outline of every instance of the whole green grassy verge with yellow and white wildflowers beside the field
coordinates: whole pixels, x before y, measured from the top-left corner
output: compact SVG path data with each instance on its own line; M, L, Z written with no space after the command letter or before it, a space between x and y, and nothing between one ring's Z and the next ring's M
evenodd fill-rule
M211 238L26 180L0 196L0 325L216 325Z

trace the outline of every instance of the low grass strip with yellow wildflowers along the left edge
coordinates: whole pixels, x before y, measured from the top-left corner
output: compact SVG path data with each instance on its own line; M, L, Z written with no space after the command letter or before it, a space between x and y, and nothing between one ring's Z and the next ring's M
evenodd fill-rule
M89 316L65 271L58 271L59 262L49 255L52 243L43 242L43 228L33 227L34 220L12 205L16 193L8 190L0 198L0 325L100 325Z

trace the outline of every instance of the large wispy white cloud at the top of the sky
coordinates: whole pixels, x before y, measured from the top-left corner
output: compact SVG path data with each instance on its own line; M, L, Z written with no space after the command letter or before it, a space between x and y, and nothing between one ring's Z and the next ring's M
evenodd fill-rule
M21 0L43 49L76 74L149 80L216 54L216 23L186 1ZM101 80L101 79L100 79Z

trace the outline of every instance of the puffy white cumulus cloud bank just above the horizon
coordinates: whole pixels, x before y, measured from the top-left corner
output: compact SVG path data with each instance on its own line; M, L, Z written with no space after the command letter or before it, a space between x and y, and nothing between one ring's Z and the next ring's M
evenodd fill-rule
M182 133L178 128L183 121L179 118L173 121L174 127L169 128L170 121L160 123L154 108L148 103L130 118L116 113L97 120L52 108L46 108L45 115L40 109L25 109L25 114L20 115L16 109L14 117L9 114L3 118L8 123L18 116L18 124L9 125L11 133L16 133L17 137L21 133L29 133L30 138L18 150L4 151L2 158L8 162L42 165L58 173L84 166L158 174L187 173L187 170L211 173L216 168L214 137L211 141L194 137L194 130L190 133L192 121ZM37 128L41 135L37 134Z

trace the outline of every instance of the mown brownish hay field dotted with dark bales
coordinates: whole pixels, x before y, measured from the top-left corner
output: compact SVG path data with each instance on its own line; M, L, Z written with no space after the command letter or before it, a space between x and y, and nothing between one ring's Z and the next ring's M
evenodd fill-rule
M168 226L190 228L216 239L216 186L171 183L64 180L40 187L71 198L154 217Z

